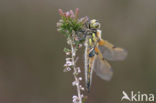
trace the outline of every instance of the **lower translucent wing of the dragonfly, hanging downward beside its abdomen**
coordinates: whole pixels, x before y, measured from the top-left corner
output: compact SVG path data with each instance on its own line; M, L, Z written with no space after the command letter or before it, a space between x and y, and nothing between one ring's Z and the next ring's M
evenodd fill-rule
M111 80L113 75L113 70L110 64L106 60L100 59L99 55L94 61L94 71L97 76L107 81Z

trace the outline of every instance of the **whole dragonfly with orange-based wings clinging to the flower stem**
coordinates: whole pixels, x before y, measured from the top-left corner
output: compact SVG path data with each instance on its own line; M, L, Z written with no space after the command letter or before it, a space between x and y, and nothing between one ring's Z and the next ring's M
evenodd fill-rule
M113 75L113 70L107 60L123 60L127 56L127 52L101 38L100 23L97 20L89 20L87 28L84 63L86 88L89 91L93 71L100 78L109 81Z

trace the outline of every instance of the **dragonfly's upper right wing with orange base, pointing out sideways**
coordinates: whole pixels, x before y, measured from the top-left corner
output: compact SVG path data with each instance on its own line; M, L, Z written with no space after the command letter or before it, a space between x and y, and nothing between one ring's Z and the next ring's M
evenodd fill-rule
M98 48L104 58L110 61L124 60L127 56L127 51L122 48L115 47L113 44L105 40L100 40Z

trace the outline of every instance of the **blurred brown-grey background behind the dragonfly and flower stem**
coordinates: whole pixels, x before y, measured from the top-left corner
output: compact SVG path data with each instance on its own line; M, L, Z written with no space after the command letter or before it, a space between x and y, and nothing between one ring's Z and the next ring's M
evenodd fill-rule
M63 72L66 40L56 22L59 8L77 7L80 16L102 22L104 39L129 53L111 62L112 81L94 75L86 103L120 103L123 90L156 95L155 0L1 0L0 103L72 102L73 75Z

